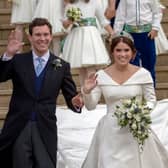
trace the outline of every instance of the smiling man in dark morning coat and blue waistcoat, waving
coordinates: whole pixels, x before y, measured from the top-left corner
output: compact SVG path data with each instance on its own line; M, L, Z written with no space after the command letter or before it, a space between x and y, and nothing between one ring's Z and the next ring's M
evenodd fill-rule
M11 79L13 83L9 111L0 134L2 168L55 168L55 111L60 90L73 111L80 112L83 105L70 65L49 52L50 23L43 18L34 19L29 34L32 51L16 54L22 44L12 32L6 53L0 59L0 82Z

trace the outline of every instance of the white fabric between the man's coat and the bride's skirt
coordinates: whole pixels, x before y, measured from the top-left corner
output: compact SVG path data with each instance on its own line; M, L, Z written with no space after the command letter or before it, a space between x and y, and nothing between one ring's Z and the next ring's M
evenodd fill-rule
M82 113L57 107L58 163L57 168L80 168L88 152L98 121L106 113L105 105Z

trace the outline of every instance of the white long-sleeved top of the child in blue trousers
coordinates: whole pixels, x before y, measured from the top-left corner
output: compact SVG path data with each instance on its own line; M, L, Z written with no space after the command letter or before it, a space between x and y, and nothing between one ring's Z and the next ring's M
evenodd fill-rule
M124 24L151 24L152 29L159 30L160 14L157 0L121 0L116 12L115 31L122 31Z

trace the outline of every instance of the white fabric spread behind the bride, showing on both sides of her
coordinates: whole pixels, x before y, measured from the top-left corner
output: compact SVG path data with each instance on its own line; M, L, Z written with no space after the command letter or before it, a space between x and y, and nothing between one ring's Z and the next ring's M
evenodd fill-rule
M58 164L57 168L80 168L98 121L106 114L106 105L99 104L95 110L85 107L77 114L64 106L57 108ZM168 151L168 99L160 100L152 116L152 129Z

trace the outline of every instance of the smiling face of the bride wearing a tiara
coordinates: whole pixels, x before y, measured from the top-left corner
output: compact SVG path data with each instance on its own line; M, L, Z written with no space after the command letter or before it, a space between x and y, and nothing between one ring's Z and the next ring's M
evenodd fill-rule
M118 65L127 65L133 58L133 51L130 46L120 41L113 50L114 63Z

